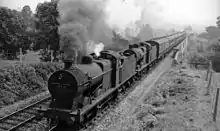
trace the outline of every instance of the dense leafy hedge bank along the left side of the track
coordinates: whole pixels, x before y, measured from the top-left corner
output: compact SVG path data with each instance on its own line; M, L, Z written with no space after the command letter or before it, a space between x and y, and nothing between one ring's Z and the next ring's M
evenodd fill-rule
M59 63L17 64L0 72L0 107L46 91L48 77Z

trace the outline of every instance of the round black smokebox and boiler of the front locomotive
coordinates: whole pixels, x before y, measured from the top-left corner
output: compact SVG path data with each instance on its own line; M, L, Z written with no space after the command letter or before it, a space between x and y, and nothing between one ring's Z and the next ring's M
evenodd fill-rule
M73 100L85 92L94 91L101 84L103 70L93 62L91 56L82 57L83 64L75 64L71 59L64 60L64 70L54 72L48 80L48 90L56 105L71 109ZM74 65L74 66L73 66Z

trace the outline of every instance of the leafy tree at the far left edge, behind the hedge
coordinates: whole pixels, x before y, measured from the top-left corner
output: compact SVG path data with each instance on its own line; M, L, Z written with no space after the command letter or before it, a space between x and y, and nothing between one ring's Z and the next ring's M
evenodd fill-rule
M29 6L25 8L31 11ZM22 48L23 53L25 53L25 50L30 47L31 38L29 38L29 32L26 30L29 27L26 18L30 18L31 15L26 16L24 12L25 10L20 12L7 7L0 7L0 43L4 55L7 57L16 58L16 52L19 48Z

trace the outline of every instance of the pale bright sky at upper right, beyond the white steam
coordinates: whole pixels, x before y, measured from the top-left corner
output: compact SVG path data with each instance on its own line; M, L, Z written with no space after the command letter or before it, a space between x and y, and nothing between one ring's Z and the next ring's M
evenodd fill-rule
M152 9L148 10L151 10L155 21L162 21L162 23L181 26L190 24L195 28L204 29L208 25L216 25L216 17L220 15L220 0L137 1L142 6L148 6L148 8L150 6Z

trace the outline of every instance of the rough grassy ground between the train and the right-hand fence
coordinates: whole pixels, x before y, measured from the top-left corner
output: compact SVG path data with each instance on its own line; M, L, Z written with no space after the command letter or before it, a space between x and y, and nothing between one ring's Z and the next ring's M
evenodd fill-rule
M219 131L213 95L205 95L206 71L176 65L157 81L161 66L168 67L166 61L157 67L94 131Z

